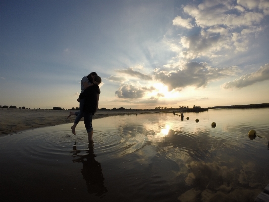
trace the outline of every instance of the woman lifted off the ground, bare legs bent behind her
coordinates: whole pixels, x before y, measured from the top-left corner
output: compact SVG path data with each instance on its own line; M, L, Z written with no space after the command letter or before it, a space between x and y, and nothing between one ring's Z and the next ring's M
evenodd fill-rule
M85 89L87 89L88 87L94 85L92 79L96 75L97 75L97 73L93 71L89 75L84 76L81 79L81 93L84 92ZM72 133L74 135L76 135L76 131L75 131L76 126L78 125L80 119L83 117L83 111L82 111L82 109L83 109L83 106L84 106L84 99L80 99L80 101L78 100L78 102L79 102L79 111L77 111L77 112L70 111L69 115L67 116L67 118L69 118L72 115L76 115L77 116L76 119L75 119L74 125L71 127Z

